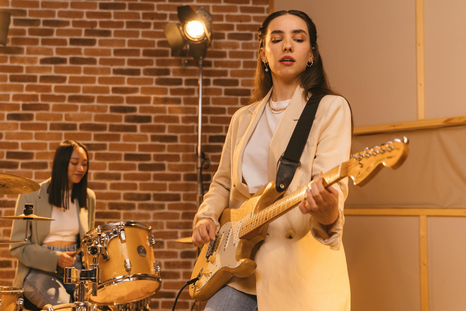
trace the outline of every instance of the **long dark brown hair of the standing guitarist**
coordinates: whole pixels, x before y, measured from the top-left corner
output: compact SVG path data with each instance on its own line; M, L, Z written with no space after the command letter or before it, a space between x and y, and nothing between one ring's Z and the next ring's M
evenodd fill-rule
M311 95L337 95L335 90L330 87L329 79L323 69L322 56L319 53L319 45L317 44L317 30L315 29L314 22L310 19L308 14L297 11L278 11L267 16L265 21L260 25L259 33L257 38L259 39L259 51L257 55L257 65L256 72L254 74L253 80L253 92L249 99L249 104L255 103L256 101L262 99L267 95L268 90L273 85L272 82L272 71L265 71L265 65L260 59L260 49L265 47L265 40L267 35L267 29L270 22L285 14L291 14L300 17L308 26L308 33L310 38L311 50L313 54L313 65L311 67L306 67L300 77L299 84L304 89L303 98L305 101L309 99ZM314 49L312 49L314 48ZM349 106L351 110L351 106ZM351 112L351 133L353 132L353 113Z

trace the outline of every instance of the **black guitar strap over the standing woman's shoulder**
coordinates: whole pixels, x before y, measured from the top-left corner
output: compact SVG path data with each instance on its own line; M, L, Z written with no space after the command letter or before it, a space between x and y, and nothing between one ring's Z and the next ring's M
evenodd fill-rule
M302 151L308 141L309 132L311 131L314 122L315 113L319 107L319 103L325 95L312 95L299 117L298 123L295 126L293 134L291 134L285 153L280 157L280 166L277 171L275 187L278 192L285 191L293 180L296 169L301 165L300 159Z

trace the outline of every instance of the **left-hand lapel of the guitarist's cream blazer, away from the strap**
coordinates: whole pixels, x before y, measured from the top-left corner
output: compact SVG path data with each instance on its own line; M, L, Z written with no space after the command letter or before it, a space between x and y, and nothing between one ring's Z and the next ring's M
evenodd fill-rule
M233 165L233 184L234 186L241 192L241 194L245 195L247 198L251 197L249 194L249 188L246 184L243 183L243 173L242 173L242 163L243 163L243 154L244 149L246 148L247 142L249 138L254 132L257 123L259 122L260 116L264 111L265 105L267 104L268 98L272 93L272 89L270 89L267 95L262 98L262 100L257 105L251 105L249 107L249 112L251 113L251 119L249 125L245 131L245 134L240 138L240 142L237 144L238 147L235 148L233 154L233 160L236 162L236 166ZM240 122L244 122L246 120L240 120Z

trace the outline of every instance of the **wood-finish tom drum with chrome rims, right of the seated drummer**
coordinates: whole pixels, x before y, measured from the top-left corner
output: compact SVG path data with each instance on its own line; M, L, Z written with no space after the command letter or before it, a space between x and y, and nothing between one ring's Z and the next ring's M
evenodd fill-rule
M162 279L154 258L154 243L151 227L136 221L111 222L86 233L81 242L85 269L89 269L93 258L87 248L103 247L97 296L92 296L89 290L88 300L98 305L117 305L156 293Z

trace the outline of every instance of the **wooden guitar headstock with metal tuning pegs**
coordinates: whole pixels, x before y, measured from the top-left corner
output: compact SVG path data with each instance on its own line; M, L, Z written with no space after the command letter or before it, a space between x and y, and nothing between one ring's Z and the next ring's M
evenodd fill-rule
M396 138L385 144L366 147L362 152L351 155L348 161L348 176L353 179L355 186L364 186L369 182L382 167L391 170L397 169L403 163L409 153L409 140Z

